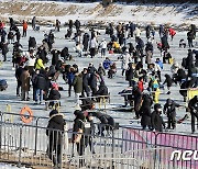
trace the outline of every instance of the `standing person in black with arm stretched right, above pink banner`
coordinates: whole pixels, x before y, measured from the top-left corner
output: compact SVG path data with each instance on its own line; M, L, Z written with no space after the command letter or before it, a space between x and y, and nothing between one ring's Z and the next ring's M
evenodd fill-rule
M166 103L164 104L164 113L168 117L168 126L167 128L173 127L175 129L176 127L176 108L180 106L176 102L174 102L172 99L167 99Z

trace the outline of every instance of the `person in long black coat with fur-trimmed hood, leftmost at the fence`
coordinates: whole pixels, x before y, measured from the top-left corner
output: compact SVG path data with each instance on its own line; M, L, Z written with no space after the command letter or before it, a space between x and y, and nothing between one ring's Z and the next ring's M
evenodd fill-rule
M48 136L47 155L53 161L54 166L58 166L62 162L62 144L64 126L66 125L63 114L59 114L57 110L53 110L50 113L48 125L46 135ZM55 155L53 154L55 151Z

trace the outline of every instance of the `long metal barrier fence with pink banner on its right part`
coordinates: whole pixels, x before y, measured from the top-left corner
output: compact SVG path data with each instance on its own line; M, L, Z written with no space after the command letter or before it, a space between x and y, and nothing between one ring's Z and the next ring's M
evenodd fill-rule
M1 155L3 155L1 156L3 157L1 159L14 160L24 164L25 161L29 161L26 159L26 155L30 154L30 157L28 156L30 158L29 164L51 166L52 160L50 160L48 156L46 155L46 149L48 145L46 128L42 127L43 123L40 123L40 121L47 122L48 119L34 116L33 122L31 124L24 125L22 123L21 124L8 123L9 121L7 121L7 117L9 115L12 114L2 113L2 112L0 113L0 119L1 119L0 146L1 146L1 150L3 150L1 151ZM19 116L19 114L14 114L14 115ZM66 121L66 123L68 126L66 136L70 138L72 135L74 134L69 129L73 127L73 121ZM78 165L79 159L85 157L87 159L91 159L89 166L90 164L94 162L92 159L95 159L96 157L98 162L102 161L105 164L111 164L113 160L114 164L114 160L123 161L123 158L124 160L128 160L129 158L127 156L123 157L123 155L129 154L130 151L139 153L141 149L162 149L162 148L165 149L164 151L166 154L166 158L163 158L164 161L163 165L168 166L168 168L174 168L176 166L177 168L196 169L198 166L198 161L194 159L190 159L188 161L176 160L176 159L173 161L169 160L173 150L182 150L182 151L197 150L198 149L197 136L173 134L173 133L156 133L156 132L148 132L148 131L142 131L138 128L130 128L122 126L119 126L118 129L107 129L106 127L108 126L103 126L99 124L95 124L95 125L96 125L96 129L91 136L92 142L88 144L85 150L86 156L81 157L77 154L76 144L67 144L67 148L63 147L63 159L64 159L63 161L64 162L67 161L65 162L67 164L67 166L73 164L73 162L69 164L68 161L75 161L74 166L76 164ZM99 134L101 127L105 127L105 135L102 136ZM66 142L65 137L63 139L65 143ZM92 155L94 147L96 154L100 156L96 156L96 154ZM109 153L112 156L106 158L105 155L107 156L109 155ZM24 159L23 159L23 155L25 155ZM37 158L35 159L35 157ZM132 161L135 164L135 160L133 158ZM140 161L141 160L138 160L138 162Z

